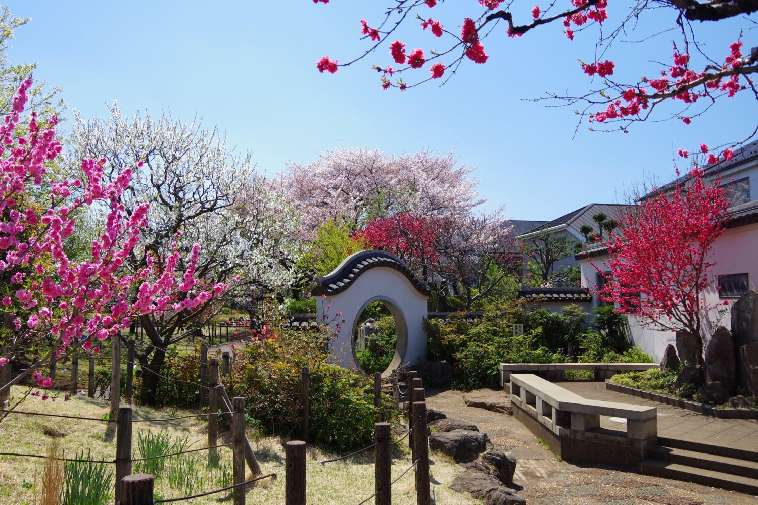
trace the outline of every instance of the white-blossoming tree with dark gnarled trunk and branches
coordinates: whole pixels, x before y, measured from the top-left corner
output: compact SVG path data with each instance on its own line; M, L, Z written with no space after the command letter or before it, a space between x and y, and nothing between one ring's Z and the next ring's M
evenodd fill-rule
M131 252L125 268L138 271L149 254L162 253L173 242L182 251L201 244L193 275L205 285L245 279L242 291L230 293L231 298L287 284L291 260L297 259L289 257L297 220L283 196L274 195L272 183L254 173L249 153L233 154L215 129L202 129L196 121L165 114L155 120L149 114L128 118L116 104L108 112L105 120L89 121L76 113L72 142L76 157L105 157L106 179L124 166L144 163L121 197L128 213L151 204L145 244ZM179 267L187 267L181 258ZM177 290L173 296L182 301L185 295ZM137 356L143 372L152 372L143 375L143 404L154 403L165 351L196 332L209 304L211 300L193 312L166 310L140 317L150 344L139 348Z

